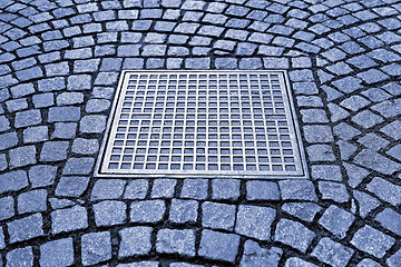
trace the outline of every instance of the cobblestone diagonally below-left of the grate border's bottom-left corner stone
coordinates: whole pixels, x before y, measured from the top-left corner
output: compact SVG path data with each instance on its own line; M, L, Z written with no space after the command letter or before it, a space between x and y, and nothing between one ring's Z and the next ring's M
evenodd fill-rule
M45 189L27 191L18 196L18 212L37 212L47 210L47 191Z

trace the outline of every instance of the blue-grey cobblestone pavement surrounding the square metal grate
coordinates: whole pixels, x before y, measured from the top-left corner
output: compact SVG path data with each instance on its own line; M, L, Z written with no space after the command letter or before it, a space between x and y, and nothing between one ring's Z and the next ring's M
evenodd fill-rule
M401 1L0 10L0 265L401 266ZM95 179L124 69L288 70L310 179Z

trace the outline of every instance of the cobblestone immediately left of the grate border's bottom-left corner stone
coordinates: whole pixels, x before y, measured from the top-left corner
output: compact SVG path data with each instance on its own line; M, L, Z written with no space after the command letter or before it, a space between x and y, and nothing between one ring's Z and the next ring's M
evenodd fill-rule
M29 181L31 182L32 188L50 186L55 182L56 175L56 166L36 165L29 169Z

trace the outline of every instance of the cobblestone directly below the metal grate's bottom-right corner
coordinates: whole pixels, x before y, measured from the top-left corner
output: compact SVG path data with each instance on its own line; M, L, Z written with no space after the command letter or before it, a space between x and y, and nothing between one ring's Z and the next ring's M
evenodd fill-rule
M315 188L309 180L282 180L278 186L283 200L317 200Z

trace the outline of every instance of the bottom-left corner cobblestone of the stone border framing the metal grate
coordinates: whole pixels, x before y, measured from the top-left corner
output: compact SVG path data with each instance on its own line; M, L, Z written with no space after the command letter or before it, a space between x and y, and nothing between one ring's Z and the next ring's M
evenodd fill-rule
M57 184L56 196L80 197L88 188L89 177L63 176Z

